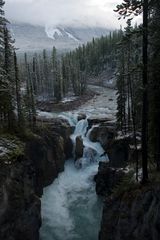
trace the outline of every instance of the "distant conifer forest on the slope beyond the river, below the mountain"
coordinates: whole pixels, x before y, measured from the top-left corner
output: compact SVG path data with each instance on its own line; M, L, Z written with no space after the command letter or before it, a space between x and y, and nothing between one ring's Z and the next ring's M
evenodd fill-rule
M116 68L117 42L121 31L93 39L73 51L59 56L55 47L51 54L46 50L21 61L21 75L31 78L34 95L42 99L60 101L69 93L83 95L88 79L107 69ZM22 67L23 66L23 67Z

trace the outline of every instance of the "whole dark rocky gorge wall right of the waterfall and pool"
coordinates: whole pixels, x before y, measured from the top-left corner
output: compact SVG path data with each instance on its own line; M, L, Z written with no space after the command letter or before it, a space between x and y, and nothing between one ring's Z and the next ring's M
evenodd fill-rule
M109 163L99 164L95 176L96 192L104 198L99 240L160 239L158 174L150 174L150 179L153 178L151 183L137 183L135 170L132 169L135 155L132 137L111 138L108 141L107 137L102 138L100 131L93 130L93 133L94 137L101 136L100 140L106 142L110 158ZM138 151L140 157L140 149ZM125 169L128 164L130 167Z

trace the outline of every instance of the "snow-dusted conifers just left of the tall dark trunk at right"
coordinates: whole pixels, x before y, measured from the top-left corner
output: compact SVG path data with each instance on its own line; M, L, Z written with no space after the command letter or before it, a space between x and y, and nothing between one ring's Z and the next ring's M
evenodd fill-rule
M142 36L131 21L118 44L117 69L117 123L122 131L133 131L141 127L142 112Z

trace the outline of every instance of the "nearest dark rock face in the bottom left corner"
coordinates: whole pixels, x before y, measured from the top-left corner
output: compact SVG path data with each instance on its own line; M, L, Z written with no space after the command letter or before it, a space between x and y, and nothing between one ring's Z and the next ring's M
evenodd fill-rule
M0 170L0 239L38 240L41 202L34 191L34 166L19 157Z

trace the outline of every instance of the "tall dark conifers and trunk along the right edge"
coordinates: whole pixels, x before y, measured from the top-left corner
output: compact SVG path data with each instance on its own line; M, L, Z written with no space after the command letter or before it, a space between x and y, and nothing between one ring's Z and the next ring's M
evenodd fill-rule
M128 17L119 43L117 120L124 134L134 132L136 150L136 133L142 134L143 182L148 181L148 162L160 170L159 9L158 0L124 0L116 9L121 17ZM143 24L133 28L133 16L142 12Z

